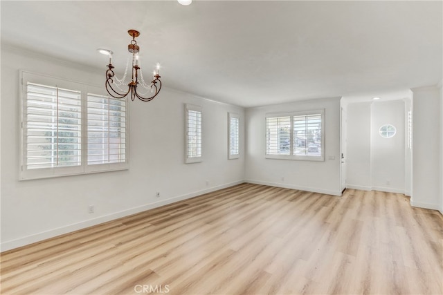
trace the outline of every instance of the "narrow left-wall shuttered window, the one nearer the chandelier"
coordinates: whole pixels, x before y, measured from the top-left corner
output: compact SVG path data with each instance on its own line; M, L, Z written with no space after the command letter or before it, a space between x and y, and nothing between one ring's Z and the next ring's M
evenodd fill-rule
M186 163L202 161L201 106L186 104Z

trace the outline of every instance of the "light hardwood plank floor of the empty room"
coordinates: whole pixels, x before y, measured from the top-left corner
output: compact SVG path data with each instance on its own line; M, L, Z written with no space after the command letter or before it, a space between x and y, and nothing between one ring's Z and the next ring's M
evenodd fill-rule
M442 258L404 195L239 184L7 251L1 294L443 294Z

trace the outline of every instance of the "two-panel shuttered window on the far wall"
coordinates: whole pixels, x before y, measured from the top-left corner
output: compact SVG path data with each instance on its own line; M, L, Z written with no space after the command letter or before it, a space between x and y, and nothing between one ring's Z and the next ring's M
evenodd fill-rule
M266 158L324 160L324 111L266 115Z

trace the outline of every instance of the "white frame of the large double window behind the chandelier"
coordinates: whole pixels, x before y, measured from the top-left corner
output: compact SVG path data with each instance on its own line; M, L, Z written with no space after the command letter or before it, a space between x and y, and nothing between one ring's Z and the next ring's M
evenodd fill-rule
M78 166L56 166L48 168L28 169L28 125L27 125L27 98L28 82L48 87L64 88L71 91L80 91L80 152L81 162ZM105 171L119 171L129 169L129 108L126 108L125 126L126 159L122 163L107 163L89 165L87 164L87 93L106 93L105 88L75 82L69 79L32 73L26 70L19 70L19 100L20 100L20 155L19 155L19 180L34 180L41 178L56 178L69 175L82 175Z

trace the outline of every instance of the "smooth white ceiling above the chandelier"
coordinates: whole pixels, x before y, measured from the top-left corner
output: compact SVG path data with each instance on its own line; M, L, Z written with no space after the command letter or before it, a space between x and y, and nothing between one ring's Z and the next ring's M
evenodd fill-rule
M1 42L239 106L392 93L442 81L442 1L1 1ZM43 69L42 69L43 70ZM161 94L160 94L161 97Z

